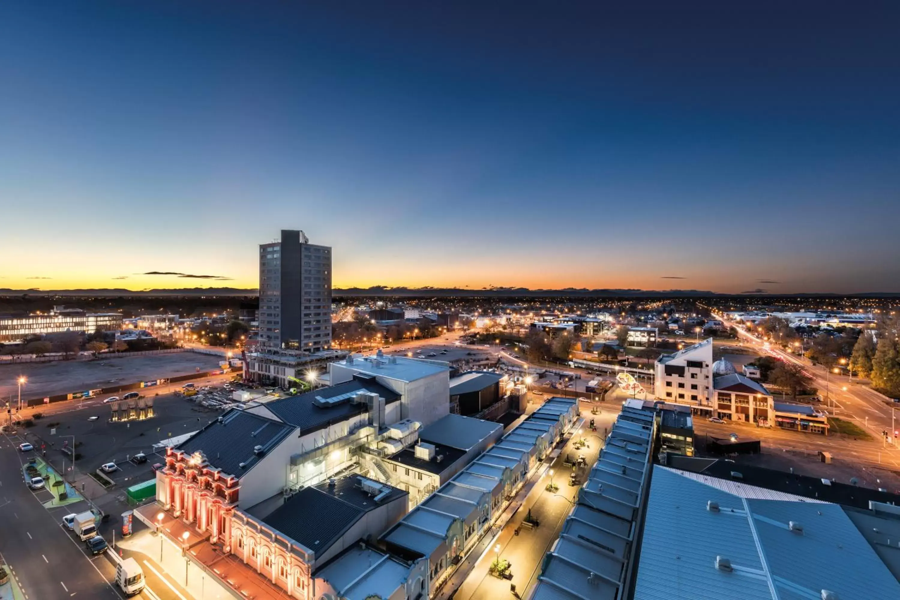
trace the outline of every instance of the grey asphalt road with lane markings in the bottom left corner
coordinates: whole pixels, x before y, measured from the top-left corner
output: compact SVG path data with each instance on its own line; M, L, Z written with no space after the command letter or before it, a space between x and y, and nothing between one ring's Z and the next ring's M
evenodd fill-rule
M79 598L120 598L101 575L109 565L103 556L88 559L82 545L44 508L49 491L32 492L25 486L18 439L0 437L0 506L3 534L0 553L13 569L15 578L29 600ZM60 517L71 506L59 508ZM97 564L100 563L100 564ZM105 565L103 565L105 563Z

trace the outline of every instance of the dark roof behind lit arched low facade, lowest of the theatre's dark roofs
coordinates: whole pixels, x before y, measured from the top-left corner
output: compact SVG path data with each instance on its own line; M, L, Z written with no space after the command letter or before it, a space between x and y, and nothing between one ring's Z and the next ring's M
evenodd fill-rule
M381 484L392 491L381 502L375 502L374 497L359 488L361 479L365 478L350 475L338 479L333 488L328 483L304 488L263 522L311 551L324 552L367 512L407 496L401 489Z

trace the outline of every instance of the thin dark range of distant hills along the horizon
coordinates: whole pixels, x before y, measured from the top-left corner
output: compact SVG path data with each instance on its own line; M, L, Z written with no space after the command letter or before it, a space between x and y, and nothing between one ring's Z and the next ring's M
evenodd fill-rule
M0 296L257 296L257 289L240 288L177 288L154 290L126 290L124 288L100 288L85 290L10 290L0 288ZM588 290L586 288L563 288L562 290L529 290L528 288L484 288L482 290L469 290L458 288L389 288L376 285L371 288L335 288L334 296L350 297L374 297L374 296L407 296L407 297L464 297L464 298L508 298L508 297L533 297L533 298L689 298L689 297L728 297L728 296L790 296L821 298L821 297L845 297L854 298L896 298L900 292L869 291L857 294L834 293L740 293L726 294L707 290Z

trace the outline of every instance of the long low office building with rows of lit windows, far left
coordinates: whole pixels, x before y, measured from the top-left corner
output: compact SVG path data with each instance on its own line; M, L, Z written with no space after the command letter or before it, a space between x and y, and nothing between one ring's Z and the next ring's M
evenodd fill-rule
M49 313L0 316L0 342L18 342L32 336L45 336L67 331L94 333L121 328L118 312L90 313L81 309L55 306Z

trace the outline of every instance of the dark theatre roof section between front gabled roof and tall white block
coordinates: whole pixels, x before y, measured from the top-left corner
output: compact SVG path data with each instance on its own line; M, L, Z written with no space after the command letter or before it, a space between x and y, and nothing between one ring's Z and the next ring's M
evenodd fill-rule
M266 408L285 423L300 427L301 432L307 434L324 429L332 423L345 421L350 416L365 413L367 410L365 405L354 404L349 399L332 407L320 407L314 402L317 397L336 398L356 391L371 391L378 394L386 404L400 399L400 394L385 388L381 383L375 381L374 377L357 374L350 381L328 388L320 388L298 396L267 402Z

